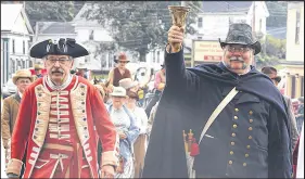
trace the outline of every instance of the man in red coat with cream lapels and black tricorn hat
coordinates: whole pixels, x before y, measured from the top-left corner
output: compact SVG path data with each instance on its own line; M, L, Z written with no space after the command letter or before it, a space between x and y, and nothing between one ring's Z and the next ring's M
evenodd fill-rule
M11 140L9 178L18 177L26 148L24 178L114 177L114 125L98 89L69 73L73 59L88 54L74 39L46 40L30 49L31 57L43 60L48 75L24 93ZM103 148L100 166L98 139Z

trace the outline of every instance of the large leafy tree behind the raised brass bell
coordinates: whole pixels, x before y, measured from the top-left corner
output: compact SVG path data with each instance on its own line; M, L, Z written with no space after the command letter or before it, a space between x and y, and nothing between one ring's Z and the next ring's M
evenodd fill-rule
M98 22L111 33L116 43L139 53L140 62L145 62L150 50L166 43L167 30L171 25L168 5L179 5L180 1L102 1L90 4L84 16ZM196 11L188 18L188 33Z

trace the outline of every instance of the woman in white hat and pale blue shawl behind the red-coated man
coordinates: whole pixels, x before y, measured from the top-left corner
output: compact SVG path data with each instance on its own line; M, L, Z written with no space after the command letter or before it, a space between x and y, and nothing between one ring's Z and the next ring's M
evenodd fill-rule
M119 166L115 178L134 178L134 143L140 129L136 126L134 116L124 105L127 98L126 90L123 87L114 87L110 95L112 104L106 108L119 136Z

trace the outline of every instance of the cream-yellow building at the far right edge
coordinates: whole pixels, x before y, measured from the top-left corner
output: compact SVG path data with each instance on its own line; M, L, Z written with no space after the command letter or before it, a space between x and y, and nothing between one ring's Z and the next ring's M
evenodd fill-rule
M288 2L287 61L282 64L284 94L290 98L304 97L304 2Z

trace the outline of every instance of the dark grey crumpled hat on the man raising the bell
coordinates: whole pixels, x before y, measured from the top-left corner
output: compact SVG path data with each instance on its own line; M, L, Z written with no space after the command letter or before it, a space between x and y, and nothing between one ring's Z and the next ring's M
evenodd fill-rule
M254 54L258 54L262 50L260 43L254 40L252 35L252 27L249 24L239 23L231 24L226 38L226 41L220 41L220 47L224 48L227 44L245 44L254 49Z

